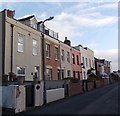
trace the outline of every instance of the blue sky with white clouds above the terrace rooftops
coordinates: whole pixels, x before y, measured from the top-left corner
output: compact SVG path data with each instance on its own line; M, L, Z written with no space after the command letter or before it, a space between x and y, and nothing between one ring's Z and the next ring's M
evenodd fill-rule
M38 21L54 16L45 25L94 51L95 57L112 61L118 70L118 2L0 2L0 10L15 10L19 19L34 14Z

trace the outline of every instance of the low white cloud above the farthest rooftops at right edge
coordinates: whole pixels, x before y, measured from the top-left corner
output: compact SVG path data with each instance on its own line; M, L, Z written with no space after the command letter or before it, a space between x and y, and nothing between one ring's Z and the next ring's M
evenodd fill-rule
M118 49L94 50L95 57L112 61L112 71L118 70Z

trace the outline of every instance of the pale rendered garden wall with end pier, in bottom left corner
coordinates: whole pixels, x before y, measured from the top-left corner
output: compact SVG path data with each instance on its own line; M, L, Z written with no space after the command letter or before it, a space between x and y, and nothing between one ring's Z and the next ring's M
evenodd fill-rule
M15 110L15 113L26 109L24 85L2 86L2 107Z

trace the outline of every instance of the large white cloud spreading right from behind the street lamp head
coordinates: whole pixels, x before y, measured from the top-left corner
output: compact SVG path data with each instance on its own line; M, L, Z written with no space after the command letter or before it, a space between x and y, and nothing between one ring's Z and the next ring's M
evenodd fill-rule
M93 15L94 17L92 17ZM81 28L104 27L114 24L117 22L117 19L116 16L101 16L100 13L90 13L83 16L77 13L61 12L56 15L52 21L46 22L46 24L52 30L59 32L61 40L63 40L65 36L80 39L84 35L84 32L80 31Z

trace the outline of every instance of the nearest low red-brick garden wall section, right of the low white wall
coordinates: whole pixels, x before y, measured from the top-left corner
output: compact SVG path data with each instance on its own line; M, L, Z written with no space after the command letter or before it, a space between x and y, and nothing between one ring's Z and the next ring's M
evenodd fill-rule
M81 82L78 83L69 83L69 96L76 95L82 93L82 84Z

